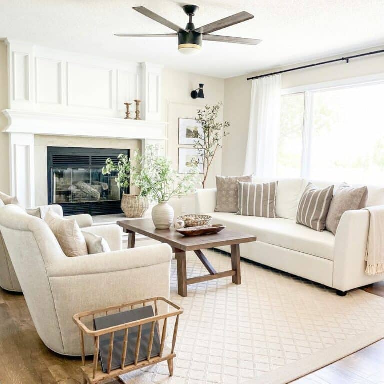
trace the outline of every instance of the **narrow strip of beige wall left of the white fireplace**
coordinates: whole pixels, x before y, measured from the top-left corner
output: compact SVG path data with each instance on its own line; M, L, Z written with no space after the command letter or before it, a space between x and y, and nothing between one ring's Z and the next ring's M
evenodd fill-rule
M9 144L8 134L3 130L6 127L7 119L1 113L8 108L8 68L7 68L7 47L0 41L0 191L9 193Z

